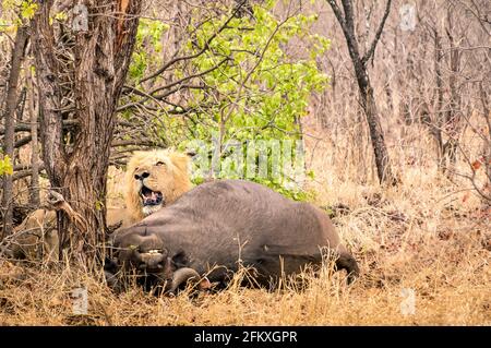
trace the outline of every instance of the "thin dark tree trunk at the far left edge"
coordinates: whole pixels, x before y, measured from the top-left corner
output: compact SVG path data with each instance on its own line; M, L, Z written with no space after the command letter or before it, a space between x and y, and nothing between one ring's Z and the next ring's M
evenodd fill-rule
M24 57L24 48L27 44L27 27L19 26L15 36L15 44L12 51L10 62L9 87L7 91L5 109L3 113L4 132L3 137L3 155L7 155L13 161L14 158L14 132L15 132L15 107L17 105L17 84L21 72L22 58ZM12 164L13 165L13 164ZM13 199L13 180L12 176L3 176L2 188L2 209L3 209L3 236L12 233L12 199Z

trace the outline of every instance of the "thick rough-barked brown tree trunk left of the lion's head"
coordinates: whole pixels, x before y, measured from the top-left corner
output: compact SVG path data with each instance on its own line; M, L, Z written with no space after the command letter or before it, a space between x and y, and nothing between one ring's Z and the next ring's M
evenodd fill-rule
M39 1L33 47L46 170L51 188L58 189L77 214L73 218L58 213L60 257L68 249L71 257L92 260L104 241L115 110L133 51L142 0L82 3L88 11L87 27L75 26L75 31L72 25L72 32L57 37L55 25L49 24L53 1ZM69 40L61 39L67 35ZM61 55L61 50L71 55ZM73 57L72 61L67 63L67 57ZM63 89L60 81L69 81L71 88ZM77 127L63 132L61 107L67 99L73 110L69 117Z

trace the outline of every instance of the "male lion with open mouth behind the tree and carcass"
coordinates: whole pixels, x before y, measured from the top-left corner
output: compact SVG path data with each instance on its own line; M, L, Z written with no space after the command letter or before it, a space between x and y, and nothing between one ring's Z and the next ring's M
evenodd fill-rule
M124 200L127 207L108 207L107 225L128 227L176 201L191 190L190 158L173 149L136 152L125 173ZM5 244L5 243L4 243ZM8 247L0 245L15 259L58 259L56 213L37 209L15 228Z

